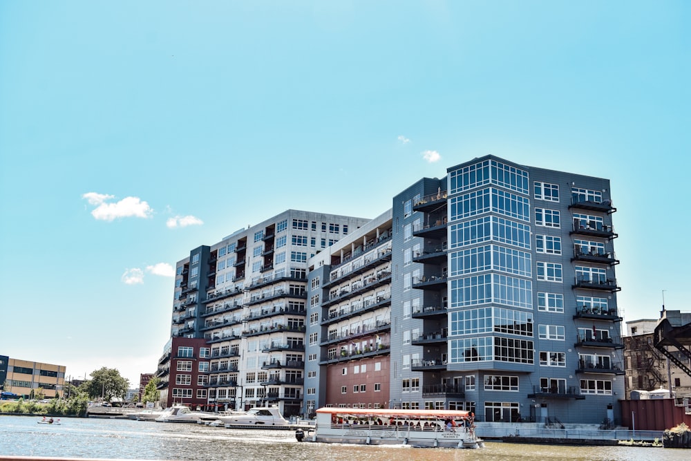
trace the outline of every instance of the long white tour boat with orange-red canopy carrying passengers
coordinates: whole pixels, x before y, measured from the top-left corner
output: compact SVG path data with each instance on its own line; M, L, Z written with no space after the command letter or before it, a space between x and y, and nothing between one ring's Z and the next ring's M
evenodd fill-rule
M345 444L405 444L419 447L479 448L473 414L460 410L319 408L316 429L296 431L297 440Z

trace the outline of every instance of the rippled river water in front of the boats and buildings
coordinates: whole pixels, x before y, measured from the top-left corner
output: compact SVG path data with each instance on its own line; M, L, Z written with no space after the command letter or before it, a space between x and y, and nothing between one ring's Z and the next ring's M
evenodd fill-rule
M684 449L487 442L484 449L415 449L296 442L292 431L242 430L131 420L0 416L0 455L205 461L688 461Z

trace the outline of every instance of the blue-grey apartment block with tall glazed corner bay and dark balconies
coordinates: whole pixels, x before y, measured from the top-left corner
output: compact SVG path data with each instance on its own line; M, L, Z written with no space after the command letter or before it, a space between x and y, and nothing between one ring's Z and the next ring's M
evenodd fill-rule
M613 420L624 395L609 181L486 156L393 199L392 406Z

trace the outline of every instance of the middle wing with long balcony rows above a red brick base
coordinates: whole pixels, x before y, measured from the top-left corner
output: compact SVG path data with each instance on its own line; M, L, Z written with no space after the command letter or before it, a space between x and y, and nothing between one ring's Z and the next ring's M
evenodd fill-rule
M388 408L391 211L310 259L305 409Z

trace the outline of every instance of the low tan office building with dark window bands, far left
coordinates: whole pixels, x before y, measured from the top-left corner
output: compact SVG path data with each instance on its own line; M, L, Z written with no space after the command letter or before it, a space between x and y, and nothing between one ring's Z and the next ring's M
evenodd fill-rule
M0 355L0 384L3 393L32 399L38 393L51 399L62 395L65 367Z

